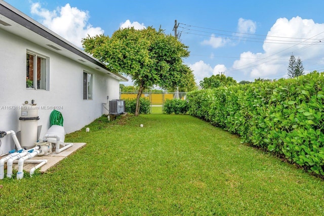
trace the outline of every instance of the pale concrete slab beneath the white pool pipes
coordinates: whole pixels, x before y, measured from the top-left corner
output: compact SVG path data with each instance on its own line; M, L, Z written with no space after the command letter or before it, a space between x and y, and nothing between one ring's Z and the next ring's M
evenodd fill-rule
M49 155L43 155L43 156L36 156L32 158L33 160L43 160L46 159L48 162L44 164L41 168L39 168L39 171L42 173L46 172L51 167L55 166L58 162L69 156L70 154L74 153L80 148L83 148L86 145L86 143L73 143L73 146L71 146L68 149L65 149L64 151L60 153L56 153L55 150ZM24 171L29 172L31 168L36 166L37 164L33 163L24 163ZM18 164L14 163L13 168L18 170Z

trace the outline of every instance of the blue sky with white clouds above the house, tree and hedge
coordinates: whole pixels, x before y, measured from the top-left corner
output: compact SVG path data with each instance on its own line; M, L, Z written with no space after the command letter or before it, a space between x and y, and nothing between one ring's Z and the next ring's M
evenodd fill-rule
M324 1L6 0L81 46L87 34L160 26L189 46L196 82L224 72L238 82L287 77L290 55L305 72L324 71ZM130 82L125 84L131 84Z

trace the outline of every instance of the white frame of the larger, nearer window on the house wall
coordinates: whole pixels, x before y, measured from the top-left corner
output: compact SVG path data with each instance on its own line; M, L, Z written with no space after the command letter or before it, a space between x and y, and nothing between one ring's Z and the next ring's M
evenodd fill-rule
M32 66L29 65L28 67L28 61L27 55L31 55L34 57ZM37 80L37 59L41 60L41 67L39 68L41 71L40 73L40 79ZM44 65L45 63L45 65ZM32 67L32 73L33 78L29 79L32 81L32 83L28 82L28 77L30 73L30 67ZM36 68L36 70L35 70ZM29 86L32 84L31 86ZM26 88L27 89L33 89L33 90L49 90L49 57L46 57L44 55L40 55L38 53L32 52L32 51L26 51Z

